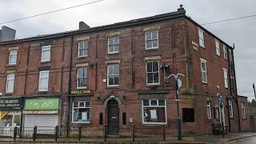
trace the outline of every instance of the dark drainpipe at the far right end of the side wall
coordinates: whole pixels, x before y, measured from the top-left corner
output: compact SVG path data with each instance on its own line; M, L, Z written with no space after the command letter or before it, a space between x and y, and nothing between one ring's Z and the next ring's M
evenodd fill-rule
M232 68L234 70L234 44L233 44L233 49L231 49L232 53ZM235 89L235 96L236 96L236 102L238 105L238 128L239 132L241 132L241 121L240 121L240 110L239 110L239 102L238 102L238 89L237 89L237 78L235 77L235 70L234 70L234 89Z

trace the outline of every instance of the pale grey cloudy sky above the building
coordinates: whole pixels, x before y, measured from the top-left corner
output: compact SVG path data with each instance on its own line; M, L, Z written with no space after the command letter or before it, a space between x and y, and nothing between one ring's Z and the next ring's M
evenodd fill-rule
M95 0L1 0L0 23L34 14L77 6ZM87 6L46 14L36 18L5 24L17 30L16 38L77 30L78 22L102 26L114 22L163 14L183 4L186 14L199 24L256 14L255 0L105 0ZM223 41L235 44L235 66L238 94L254 98L256 82L256 17L204 25Z

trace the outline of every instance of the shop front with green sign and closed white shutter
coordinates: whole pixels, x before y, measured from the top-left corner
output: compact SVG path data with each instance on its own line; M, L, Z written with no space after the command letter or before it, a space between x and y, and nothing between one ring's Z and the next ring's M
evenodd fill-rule
M24 114L24 130L34 126L38 130L54 130L59 122L59 98L26 99Z

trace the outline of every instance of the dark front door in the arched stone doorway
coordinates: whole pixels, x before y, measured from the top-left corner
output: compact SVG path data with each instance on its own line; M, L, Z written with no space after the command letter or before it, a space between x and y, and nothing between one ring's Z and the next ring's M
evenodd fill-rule
M107 132L110 135L119 135L119 107L115 99L107 103Z

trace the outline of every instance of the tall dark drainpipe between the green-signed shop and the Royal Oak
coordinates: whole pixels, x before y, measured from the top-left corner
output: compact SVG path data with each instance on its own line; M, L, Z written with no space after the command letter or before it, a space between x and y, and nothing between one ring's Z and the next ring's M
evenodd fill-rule
M73 39L74 35L71 35L71 48L70 48L70 71L69 71L69 88L68 88L68 110L67 110L67 128L66 128L66 138L69 138L69 130L70 130L70 94L71 94L71 72L72 72L72 49L73 49Z

